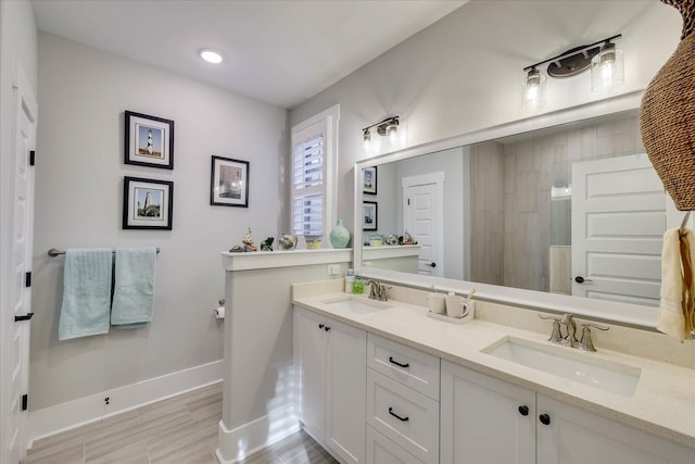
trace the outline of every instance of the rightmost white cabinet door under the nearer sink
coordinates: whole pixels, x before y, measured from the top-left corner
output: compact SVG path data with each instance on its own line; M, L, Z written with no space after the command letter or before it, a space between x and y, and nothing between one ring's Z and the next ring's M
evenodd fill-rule
M539 464L693 464L695 450L539 394Z

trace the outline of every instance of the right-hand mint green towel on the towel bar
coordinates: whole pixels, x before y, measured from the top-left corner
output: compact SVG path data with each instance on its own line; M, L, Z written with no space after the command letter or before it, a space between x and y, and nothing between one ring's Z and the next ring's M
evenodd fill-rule
M117 248L111 325L144 327L154 312L156 248Z

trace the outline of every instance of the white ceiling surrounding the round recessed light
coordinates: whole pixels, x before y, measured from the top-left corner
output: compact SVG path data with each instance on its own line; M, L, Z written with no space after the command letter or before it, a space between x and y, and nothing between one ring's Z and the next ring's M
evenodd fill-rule
M293 108L467 0L31 0L40 30ZM222 64L203 62L211 48Z

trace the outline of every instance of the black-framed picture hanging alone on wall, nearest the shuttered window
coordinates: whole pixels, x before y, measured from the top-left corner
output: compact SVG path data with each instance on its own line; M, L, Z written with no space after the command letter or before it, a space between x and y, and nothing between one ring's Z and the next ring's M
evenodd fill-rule
M213 156L210 204L249 208L249 162Z

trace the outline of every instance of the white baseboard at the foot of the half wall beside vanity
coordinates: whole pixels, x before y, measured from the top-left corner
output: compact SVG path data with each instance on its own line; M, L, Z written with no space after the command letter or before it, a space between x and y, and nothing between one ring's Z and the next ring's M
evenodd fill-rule
M299 429L300 422L294 415L293 405L274 411L232 430L225 427L224 421L219 421L215 456L222 464L233 464Z

